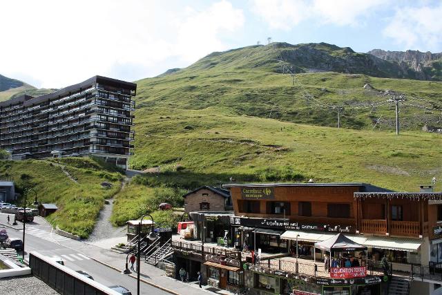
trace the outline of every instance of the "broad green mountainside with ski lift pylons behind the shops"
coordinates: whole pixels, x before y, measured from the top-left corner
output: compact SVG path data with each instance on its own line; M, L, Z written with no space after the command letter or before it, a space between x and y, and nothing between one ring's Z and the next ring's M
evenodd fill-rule
M229 178L314 178L416 191L442 177L442 137L420 131L442 124L441 111L428 109L442 106L441 82L301 73L292 85L290 75L275 73L277 49L213 53L166 77L137 82L131 165L162 171L146 175L146 183L191 189ZM367 83L372 88L363 88ZM400 136L387 90L427 107L401 104ZM343 108L341 129L332 106Z

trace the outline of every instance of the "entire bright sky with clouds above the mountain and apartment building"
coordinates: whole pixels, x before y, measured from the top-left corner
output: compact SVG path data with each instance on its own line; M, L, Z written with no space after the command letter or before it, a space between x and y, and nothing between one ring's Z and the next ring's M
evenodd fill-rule
M14 0L0 12L0 74L37 88L155 77L268 37L442 52L442 1Z

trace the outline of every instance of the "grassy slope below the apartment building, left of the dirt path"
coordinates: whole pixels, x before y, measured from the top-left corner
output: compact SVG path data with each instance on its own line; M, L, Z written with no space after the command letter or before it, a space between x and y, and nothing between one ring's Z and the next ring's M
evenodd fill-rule
M39 202L55 202L59 210L47 219L55 227L86 238L93 230L95 219L106 198L120 189L122 175L98 160L65 158L59 161L0 161L0 175L12 176L17 193L33 187ZM103 189L102 182L111 189ZM32 203L34 196L28 197ZM19 199L17 205L23 205Z

